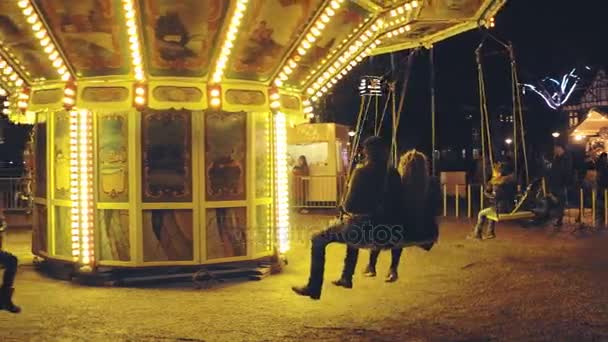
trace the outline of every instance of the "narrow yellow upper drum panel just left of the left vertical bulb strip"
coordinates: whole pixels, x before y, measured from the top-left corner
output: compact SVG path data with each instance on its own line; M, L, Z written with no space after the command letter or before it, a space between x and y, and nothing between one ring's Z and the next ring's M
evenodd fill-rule
M55 145L53 175L55 198L70 199L70 115L60 111L54 115Z

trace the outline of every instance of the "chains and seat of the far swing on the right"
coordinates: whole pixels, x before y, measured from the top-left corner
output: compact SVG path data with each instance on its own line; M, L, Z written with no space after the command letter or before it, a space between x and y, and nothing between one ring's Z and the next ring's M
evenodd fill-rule
M520 145L522 152L522 159L524 161L524 175L525 181L528 183L527 190L524 194L519 195L519 200L515 201L513 210L509 213L498 213L495 208L494 213L488 216L489 220L495 222L501 221L514 221L514 220L525 220L534 218L536 215L532 211L523 210L524 203L527 203L530 192L533 188L533 183L529 183L529 172L528 172L528 159L526 153L526 139L525 139L525 128L524 128L524 117L521 102L521 93L519 91L519 80L517 74L517 64L515 61L515 54L511 43L504 43L498 38L494 37L490 32L484 32L484 37L475 50L475 57L477 61L478 81L479 81L479 109L480 109L480 126L481 126L481 152L482 152L482 170L483 179L487 178L486 171L486 158L489 158L490 165L494 165L494 150L492 147L492 135L490 130L490 116L487 107L487 97L485 90L485 77L483 70L483 48L486 42L496 42L502 49L502 51L493 53L497 55L507 54L508 60L511 66L511 91L512 91L512 105L513 105L513 152L514 152L514 174L519 175L519 153Z

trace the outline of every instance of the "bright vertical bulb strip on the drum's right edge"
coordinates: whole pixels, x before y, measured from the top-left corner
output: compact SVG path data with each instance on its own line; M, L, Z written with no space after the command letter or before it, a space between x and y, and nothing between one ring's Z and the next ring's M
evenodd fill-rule
M287 118L282 112L274 115L275 142L275 206L279 252L289 250L289 188L287 181Z

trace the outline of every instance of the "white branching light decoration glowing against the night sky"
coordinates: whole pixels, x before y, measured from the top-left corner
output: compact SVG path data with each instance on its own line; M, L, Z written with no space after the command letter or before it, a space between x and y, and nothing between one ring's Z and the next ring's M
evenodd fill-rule
M526 89L532 90L545 100L549 108L559 109L568 102L580 80L580 77L576 74L576 69L572 69L572 71L562 76L559 81L546 77L540 81L538 86L525 83L523 90L524 94Z

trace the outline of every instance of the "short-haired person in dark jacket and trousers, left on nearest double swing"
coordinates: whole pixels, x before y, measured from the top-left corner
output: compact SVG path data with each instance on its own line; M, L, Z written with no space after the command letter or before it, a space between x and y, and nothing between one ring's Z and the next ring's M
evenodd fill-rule
M387 167L388 146L380 137L367 138L363 142L363 155L365 162L354 170L350 179L346 197L340 208L341 218L312 237L308 283L305 286L292 287L298 295L312 299L321 297L325 249L332 242L347 245L342 277L334 284L352 288L359 248L374 245L373 235L376 227L386 227L395 222L389 217L398 213L402 191L399 174L393 167Z

